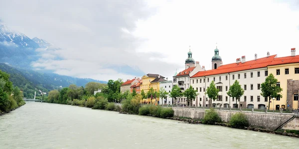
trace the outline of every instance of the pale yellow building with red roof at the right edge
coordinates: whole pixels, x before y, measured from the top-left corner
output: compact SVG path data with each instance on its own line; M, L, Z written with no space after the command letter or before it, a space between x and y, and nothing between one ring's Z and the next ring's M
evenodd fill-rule
M268 72L274 75L277 85L283 89L282 98L271 100L270 110L299 109L299 55L295 56L295 48L292 48L292 56L275 58L268 66Z

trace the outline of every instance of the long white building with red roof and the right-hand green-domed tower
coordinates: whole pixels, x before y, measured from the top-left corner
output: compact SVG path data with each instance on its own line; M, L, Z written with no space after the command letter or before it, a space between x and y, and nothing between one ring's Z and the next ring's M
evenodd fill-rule
M216 48L215 55L212 58L212 66L215 66L215 68L197 72L190 78L191 85L199 93L197 96L199 102L196 106L222 106L224 108L242 106L243 108L264 109L268 105L268 100L261 96L261 84L268 76L267 66L274 60L276 55L270 56L268 52L266 57L258 59L257 54L255 54L255 59L251 61L246 61L246 57L242 56L242 59L237 58L236 63L222 65L222 59L218 54L219 50ZM235 99L227 95L229 87L236 80L244 89L244 95L240 101L237 101L237 104ZM205 95L205 91L212 81L220 90L215 101L211 101Z

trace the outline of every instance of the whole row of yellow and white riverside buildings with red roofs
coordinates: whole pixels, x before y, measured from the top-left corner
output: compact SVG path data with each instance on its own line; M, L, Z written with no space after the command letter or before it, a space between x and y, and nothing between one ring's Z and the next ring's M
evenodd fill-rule
M185 97L178 98L176 104L198 107L242 107L255 109L265 109L268 107L268 101L271 100L270 109L299 109L299 55L296 55L296 49L291 49L291 55L286 57L277 57L267 52L265 57L258 58L254 55L254 60L246 61L246 56L237 58L235 63L223 65L222 58L219 55L219 49L216 47L212 57L212 69L205 70L198 61L192 58L192 52L189 49L187 59L185 60L185 70L176 72L172 81L158 74L147 74L141 79L135 78L127 80L122 86L121 91L133 91L146 93L152 87L159 91L160 87L170 92L173 85L178 85L181 92L184 92L190 86L197 90L198 96L193 101L187 101ZM277 85L283 91L282 98L267 99L261 96L261 84L265 82L269 74L273 74L278 79ZM240 100L229 97L227 92L230 86L239 81L244 89L244 95ZM214 81L219 89L217 100L213 101L205 94L210 83ZM166 99L159 99L158 104L172 104L173 99L167 96Z

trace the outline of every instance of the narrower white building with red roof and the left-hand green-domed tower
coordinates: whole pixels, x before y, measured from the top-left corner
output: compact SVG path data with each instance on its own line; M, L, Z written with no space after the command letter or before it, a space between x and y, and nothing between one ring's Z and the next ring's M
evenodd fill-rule
M188 58L185 60L185 70L174 74L174 76L173 76L173 85L178 85L178 87L183 92L183 91L185 91L186 89L188 89L190 87L191 83L194 83L194 82L190 82L190 76L193 76L195 73L197 73L199 71L204 71L204 70L205 70L204 66L201 67L199 65L198 61L197 62L194 61L194 59L192 58L192 52L191 52L191 50L189 50ZM189 104L189 102L186 101L185 97L182 97L182 98L179 98L179 99L176 99L176 100L177 100L176 102L177 102L178 105L185 105L186 106L186 105ZM192 104L194 106L195 106L195 103L192 102Z

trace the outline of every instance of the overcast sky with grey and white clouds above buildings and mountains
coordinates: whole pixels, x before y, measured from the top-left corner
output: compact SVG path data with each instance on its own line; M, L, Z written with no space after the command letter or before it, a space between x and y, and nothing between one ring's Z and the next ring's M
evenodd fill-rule
M298 0L1 0L0 18L30 38L62 48L36 68L109 80L182 71L189 45L211 69L216 42L224 64L299 49Z

